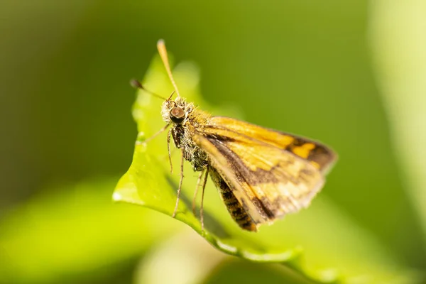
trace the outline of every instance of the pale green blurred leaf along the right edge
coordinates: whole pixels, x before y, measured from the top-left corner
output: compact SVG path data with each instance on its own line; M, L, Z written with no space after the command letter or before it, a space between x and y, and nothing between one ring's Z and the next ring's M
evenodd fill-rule
M426 243L426 2L374 1L371 48L391 139Z

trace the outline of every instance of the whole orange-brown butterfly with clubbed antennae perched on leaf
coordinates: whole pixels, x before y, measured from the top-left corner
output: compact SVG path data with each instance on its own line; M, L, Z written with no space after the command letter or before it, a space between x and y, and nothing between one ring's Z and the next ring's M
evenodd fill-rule
M262 224L272 224L285 214L308 207L324 186L324 177L337 160L337 154L322 143L290 133L267 129L245 121L212 116L180 97L173 79L163 40L158 53L173 84L167 99L148 91L133 80L133 87L164 100L161 116L165 126L145 143L168 129L170 140L180 149L180 182L173 217L176 216L183 181L183 164L187 160L200 172L195 197L202 188L200 222L204 231L204 189L207 178L216 185L232 219L247 231L258 231ZM176 94L176 98L172 99Z

